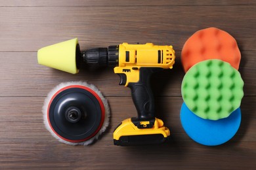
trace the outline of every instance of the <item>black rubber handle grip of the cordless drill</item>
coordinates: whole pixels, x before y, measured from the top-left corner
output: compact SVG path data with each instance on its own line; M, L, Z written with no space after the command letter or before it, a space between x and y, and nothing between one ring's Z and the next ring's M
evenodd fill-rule
M130 82L133 103L138 112L138 120L150 120L155 117L154 96L150 88L150 76L161 71L161 67L140 67L139 82Z

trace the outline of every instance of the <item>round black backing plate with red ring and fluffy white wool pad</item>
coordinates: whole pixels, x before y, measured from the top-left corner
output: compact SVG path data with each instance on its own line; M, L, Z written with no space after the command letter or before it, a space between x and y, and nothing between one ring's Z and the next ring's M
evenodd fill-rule
M110 108L102 93L86 82L56 86L45 99L45 127L58 141L72 145L93 143L109 124Z

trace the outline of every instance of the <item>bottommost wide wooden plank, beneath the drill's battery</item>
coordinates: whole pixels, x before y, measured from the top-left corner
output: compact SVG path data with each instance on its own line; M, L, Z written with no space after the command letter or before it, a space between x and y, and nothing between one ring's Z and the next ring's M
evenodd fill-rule
M44 97L1 97L1 168L138 169L139 163L139 169L249 169L256 165L256 97L244 97L238 133L228 143L215 147L196 144L184 133L179 120L181 97L156 97L157 116L170 127L171 143L114 146L112 131L121 120L135 116L136 110L131 107L131 97L106 98L112 109L107 132L91 146L68 146L58 143L42 124ZM243 107L246 105L251 108Z

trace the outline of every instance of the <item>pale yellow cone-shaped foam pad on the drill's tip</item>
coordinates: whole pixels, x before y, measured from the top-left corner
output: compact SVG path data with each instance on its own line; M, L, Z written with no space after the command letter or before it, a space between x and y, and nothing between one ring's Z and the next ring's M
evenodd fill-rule
M77 39L45 46L37 52L39 64L72 74L78 73L79 71L80 56Z

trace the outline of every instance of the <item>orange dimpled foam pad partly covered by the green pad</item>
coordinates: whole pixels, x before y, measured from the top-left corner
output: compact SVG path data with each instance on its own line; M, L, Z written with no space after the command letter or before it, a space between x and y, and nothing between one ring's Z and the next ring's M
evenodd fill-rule
M216 27L194 33L185 42L181 52L185 73L190 67L206 59L221 59L238 69L241 53L234 37Z

